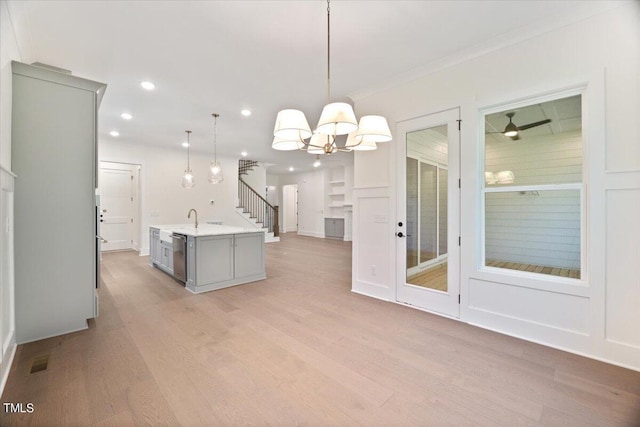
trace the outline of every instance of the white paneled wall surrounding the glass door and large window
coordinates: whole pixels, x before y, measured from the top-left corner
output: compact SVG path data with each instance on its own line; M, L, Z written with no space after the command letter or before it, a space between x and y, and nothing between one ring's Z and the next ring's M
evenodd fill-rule
M460 320L640 370L639 75L640 3L628 2L356 99L358 114L383 114L392 128L460 107ZM585 277L575 283L480 268L480 110L580 86L586 86ZM354 160L353 290L391 301L399 141L394 135Z

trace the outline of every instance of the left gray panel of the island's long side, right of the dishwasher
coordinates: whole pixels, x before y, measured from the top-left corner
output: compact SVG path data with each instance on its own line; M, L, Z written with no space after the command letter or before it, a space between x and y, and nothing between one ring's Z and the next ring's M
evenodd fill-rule
M233 279L233 235L196 239L196 286Z

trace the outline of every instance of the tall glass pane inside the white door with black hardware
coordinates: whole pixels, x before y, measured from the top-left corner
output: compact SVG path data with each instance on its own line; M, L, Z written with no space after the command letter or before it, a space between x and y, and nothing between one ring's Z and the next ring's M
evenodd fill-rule
M407 134L407 283L444 292L448 143L446 125Z

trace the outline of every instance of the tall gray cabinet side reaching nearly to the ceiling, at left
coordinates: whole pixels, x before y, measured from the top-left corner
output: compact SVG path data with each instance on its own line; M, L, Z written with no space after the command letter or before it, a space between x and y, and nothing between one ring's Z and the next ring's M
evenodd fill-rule
M12 72L20 344L85 329L97 315L96 135L106 85L19 62Z

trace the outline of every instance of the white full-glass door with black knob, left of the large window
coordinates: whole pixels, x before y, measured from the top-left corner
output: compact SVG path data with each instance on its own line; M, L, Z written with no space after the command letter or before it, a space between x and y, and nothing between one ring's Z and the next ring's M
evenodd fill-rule
M398 123L399 302L460 314L460 110Z

